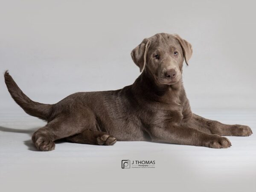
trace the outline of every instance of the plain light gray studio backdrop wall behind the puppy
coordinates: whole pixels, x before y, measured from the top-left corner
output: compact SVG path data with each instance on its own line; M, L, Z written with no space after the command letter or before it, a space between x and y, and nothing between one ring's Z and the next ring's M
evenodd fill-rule
M114 90L140 75L130 52L145 37L177 33L194 53L183 81L192 109L255 109L253 1L1 1L0 109L9 69L31 99Z

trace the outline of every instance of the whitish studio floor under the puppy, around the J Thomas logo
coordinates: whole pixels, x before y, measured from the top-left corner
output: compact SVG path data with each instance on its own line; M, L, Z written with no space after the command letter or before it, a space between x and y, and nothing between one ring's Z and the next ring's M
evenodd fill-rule
M227 124L249 125L254 134L228 137L228 149L117 142L58 143L54 151L41 152L32 145L31 135L43 121L23 112L0 113L0 190L256 192L256 111L195 112ZM156 164L154 169L121 169L127 159Z

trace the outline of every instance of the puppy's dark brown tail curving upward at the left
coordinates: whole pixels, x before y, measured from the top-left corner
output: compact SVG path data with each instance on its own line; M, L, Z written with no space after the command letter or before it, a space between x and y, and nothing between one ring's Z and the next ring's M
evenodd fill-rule
M12 99L14 99L26 113L44 120L49 118L52 113L52 105L34 102L29 99L22 90L20 90L20 87L18 87L12 79L8 71L5 72L4 79Z

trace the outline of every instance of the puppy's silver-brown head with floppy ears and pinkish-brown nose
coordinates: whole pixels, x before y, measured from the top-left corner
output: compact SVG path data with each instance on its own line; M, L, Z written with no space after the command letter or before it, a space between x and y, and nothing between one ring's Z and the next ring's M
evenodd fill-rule
M157 33L145 38L131 52L140 72L149 72L159 84L175 84L181 79L182 66L192 56L192 46L179 35Z

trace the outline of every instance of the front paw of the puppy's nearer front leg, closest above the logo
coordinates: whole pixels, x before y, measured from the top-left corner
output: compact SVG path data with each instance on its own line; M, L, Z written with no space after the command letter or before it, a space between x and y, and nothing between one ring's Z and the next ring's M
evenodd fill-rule
M210 148L229 148L231 146L230 140L218 135L211 135L204 144Z

